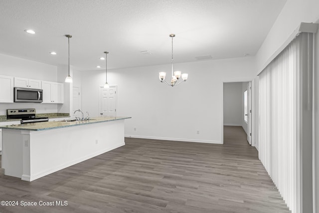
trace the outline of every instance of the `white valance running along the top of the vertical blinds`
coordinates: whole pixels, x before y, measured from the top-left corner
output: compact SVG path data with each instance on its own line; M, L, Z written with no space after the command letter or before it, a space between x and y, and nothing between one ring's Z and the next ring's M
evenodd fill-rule
M259 69L257 75L259 75L267 66L274 60L289 44L292 42L296 36L301 32L312 32L316 33L318 31L318 23L305 23L301 22L297 29L288 37L288 39L268 58L266 63Z

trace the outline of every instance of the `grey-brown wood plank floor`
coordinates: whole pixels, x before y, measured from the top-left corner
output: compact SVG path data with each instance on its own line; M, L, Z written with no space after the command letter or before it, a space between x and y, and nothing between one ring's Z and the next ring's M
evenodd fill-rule
M246 137L241 127L226 126L224 145L126 138L124 147L33 182L0 170L0 201L19 204L0 212L289 212Z

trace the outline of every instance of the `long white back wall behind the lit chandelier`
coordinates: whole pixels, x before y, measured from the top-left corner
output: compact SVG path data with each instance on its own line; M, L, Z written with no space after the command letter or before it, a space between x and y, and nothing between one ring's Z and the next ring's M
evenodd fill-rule
M118 86L118 116L132 116L125 122L125 134L222 143L223 82L253 79L254 58L179 63L174 68L189 77L173 88L158 77L166 71L169 79L170 64L108 70L108 83ZM82 72L82 108L92 117L99 116L104 80L105 70Z

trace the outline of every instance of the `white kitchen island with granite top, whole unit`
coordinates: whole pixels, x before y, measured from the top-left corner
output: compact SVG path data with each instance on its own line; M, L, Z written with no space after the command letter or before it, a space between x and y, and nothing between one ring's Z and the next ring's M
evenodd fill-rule
M128 118L1 126L4 175L33 181L124 146Z

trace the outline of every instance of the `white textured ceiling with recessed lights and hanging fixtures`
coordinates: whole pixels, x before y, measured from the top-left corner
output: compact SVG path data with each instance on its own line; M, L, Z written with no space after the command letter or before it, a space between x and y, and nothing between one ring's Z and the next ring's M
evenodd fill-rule
M255 55L286 0L0 0L0 53L77 70ZM36 34L27 34L24 29ZM148 50L152 54L142 54ZM56 51L57 55L50 55Z

